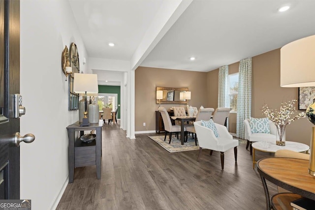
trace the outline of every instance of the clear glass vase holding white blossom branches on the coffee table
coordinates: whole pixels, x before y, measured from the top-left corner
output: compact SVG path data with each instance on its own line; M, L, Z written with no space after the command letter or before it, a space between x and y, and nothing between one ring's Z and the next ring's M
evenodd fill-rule
M287 103L281 103L280 110L275 110L274 112L272 109L269 109L267 104L262 107L262 113L276 125L278 134L276 135L276 145L285 146L285 140L283 137L287 124L290 124L294 120L306 117L305 113L301 112L297 116L291 118L291 115L296 112L295 107L293 106L296 101L297 100L291 100Z

